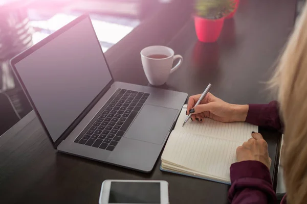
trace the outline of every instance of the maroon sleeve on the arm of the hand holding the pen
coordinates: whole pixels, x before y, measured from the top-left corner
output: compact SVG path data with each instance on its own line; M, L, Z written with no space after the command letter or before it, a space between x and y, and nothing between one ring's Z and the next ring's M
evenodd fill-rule
M278 104L275 100L269 104L249 104L245 121L258 126L272 127L280 132L283 130Z

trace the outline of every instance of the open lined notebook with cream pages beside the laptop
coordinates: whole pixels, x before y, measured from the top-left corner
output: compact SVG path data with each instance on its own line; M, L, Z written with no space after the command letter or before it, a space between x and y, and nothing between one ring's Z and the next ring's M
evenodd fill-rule
M258 132L245 122L223 123L209 118L189 120L184 127L186 105L171 132L161 156L162 171L230 184L229 167L236 162L235 150Z

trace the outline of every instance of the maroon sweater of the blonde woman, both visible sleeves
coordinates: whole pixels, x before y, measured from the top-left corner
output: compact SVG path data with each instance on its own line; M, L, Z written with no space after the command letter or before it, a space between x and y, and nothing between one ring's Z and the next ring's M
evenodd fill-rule
M272 127L282 131L282 123L278 114L277 102L270 104L250 104L246 122ZM275 203L276 195L273 190L268 167L258 161L237 162L230 166L231 187L228 199L231 203ZM281 204L286 204L283 197Z

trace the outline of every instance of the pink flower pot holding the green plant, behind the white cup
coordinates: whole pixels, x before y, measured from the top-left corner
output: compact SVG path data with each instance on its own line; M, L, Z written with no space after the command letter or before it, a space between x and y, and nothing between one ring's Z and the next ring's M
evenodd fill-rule
M215 42L222 32L224 18L211 20L195 16L194 22L196 35L200 41Z

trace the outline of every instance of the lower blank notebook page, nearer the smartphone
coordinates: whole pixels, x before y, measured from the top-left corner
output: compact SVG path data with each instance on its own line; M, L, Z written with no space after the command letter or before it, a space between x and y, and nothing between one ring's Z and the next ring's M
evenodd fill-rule
M236 162L236 148L242 142L172 131L162 161L201 172L212 178L230 181L229 168Z

